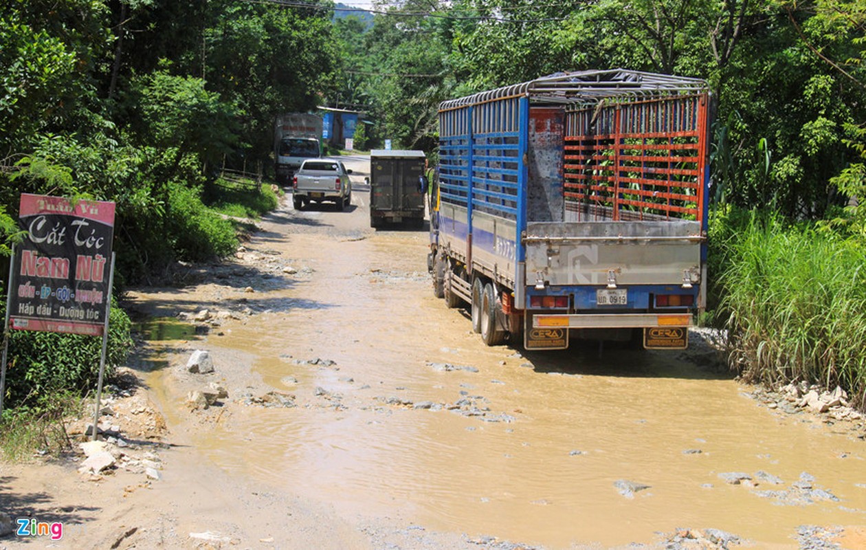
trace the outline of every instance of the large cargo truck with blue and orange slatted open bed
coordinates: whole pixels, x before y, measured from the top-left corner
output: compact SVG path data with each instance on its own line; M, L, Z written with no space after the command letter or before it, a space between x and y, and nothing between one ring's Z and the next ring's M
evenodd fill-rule
M443 102L428 266L493 346L688 345L706 295L706 82L558 73Z

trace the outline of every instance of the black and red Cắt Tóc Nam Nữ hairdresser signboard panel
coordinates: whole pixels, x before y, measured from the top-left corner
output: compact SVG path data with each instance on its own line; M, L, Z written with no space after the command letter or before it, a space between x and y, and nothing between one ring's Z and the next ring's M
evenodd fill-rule
M12 261L11 327L102 335L114 203L23 194L19 223L26 233Z

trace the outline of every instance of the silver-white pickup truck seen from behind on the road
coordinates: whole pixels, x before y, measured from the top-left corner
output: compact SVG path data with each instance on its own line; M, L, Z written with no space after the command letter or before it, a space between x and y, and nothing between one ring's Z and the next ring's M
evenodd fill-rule
M345 210L352 202L351 173L338 159L305 160L292 180L294 209L330 202L337 204L338 210Z

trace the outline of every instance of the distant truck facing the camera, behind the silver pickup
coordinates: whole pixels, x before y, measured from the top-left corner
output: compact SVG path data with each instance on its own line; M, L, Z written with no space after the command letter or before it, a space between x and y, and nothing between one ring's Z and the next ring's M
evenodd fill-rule
M274 122L274 169L278 184L292 183L306 159L322 156L322 120L318 115L284 113Z

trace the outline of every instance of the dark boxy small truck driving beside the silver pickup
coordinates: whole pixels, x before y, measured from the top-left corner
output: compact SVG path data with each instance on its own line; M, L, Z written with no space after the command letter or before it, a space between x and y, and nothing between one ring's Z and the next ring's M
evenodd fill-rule
M370 226L385 222L424 223L426 181L422 151L374 149L370 152Z

